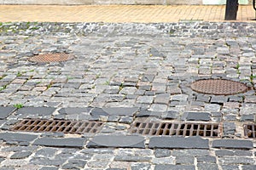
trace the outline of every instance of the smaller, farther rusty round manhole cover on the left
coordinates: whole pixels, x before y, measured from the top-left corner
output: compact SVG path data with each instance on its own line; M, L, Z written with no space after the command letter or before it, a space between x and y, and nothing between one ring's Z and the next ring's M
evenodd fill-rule
M33 56L30 61L38 63L61 62L73 59L73 54L56 53L56 54L39 54Z

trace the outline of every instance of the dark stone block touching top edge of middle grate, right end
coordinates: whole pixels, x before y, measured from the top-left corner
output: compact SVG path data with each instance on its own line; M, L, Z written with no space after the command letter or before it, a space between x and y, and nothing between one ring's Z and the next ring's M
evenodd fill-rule
M185 112L182 116L183 121L210 121L208 112Z

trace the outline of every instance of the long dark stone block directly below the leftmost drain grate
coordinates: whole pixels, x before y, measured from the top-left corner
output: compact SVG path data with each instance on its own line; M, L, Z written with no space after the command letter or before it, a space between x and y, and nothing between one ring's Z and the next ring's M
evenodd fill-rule
M37 139L33 145L43 145L52 147L70 147L70 148L83 148L87 139L82 138L48 138Z

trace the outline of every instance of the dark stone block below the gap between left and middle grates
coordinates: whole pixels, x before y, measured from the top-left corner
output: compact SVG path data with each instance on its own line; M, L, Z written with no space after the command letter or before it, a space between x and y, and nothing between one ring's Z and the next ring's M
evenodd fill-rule
M145 144L140 136L101 135L93 138L87 147L145 148Z

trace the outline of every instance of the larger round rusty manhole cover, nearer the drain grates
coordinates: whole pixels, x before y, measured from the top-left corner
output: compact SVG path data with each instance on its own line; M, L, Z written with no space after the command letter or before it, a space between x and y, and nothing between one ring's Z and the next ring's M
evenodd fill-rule
M247 91L247 86L241 82L230 80L199 80L191 84L191 88L201 94L230 95Z

